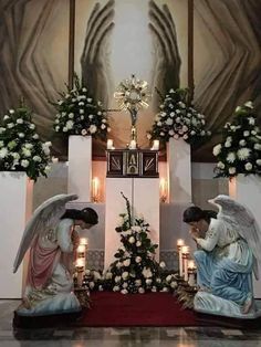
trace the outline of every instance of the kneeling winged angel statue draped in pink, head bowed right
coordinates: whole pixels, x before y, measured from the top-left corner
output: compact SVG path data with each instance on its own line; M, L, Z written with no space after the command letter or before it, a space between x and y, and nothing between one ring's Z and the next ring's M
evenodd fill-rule
M13 264L15 273L30 248L30 259L22 304L17 315L36 316L81 311L73 293L73 261L79 246L75 227L90 229L97 224L91 209L65 209L75 194L59 194L44 201L33 213Z

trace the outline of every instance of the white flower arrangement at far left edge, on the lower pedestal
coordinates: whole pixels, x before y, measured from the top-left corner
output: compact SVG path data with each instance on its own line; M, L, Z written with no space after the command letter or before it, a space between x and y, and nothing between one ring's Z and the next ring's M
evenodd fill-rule
M0 123L0 170L25 171L36 181L50 169L51 143L42 143L32 123L31 111L21 105L9 109Z

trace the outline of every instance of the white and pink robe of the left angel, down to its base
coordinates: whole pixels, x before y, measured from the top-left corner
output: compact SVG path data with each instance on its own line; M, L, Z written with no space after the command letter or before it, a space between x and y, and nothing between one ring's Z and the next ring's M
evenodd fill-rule
M73 220L62 219L54 230L42 232L30 250L24 298L31 307L20 314L53 314L80 309L73 294Z

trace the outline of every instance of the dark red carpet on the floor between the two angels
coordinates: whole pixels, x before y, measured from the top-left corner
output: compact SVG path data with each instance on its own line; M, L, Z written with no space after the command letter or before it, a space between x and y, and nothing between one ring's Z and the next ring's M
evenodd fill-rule
M73 325L93 327L195 326L196 316L169 293L123 295L113 292L91 294L91 308Z

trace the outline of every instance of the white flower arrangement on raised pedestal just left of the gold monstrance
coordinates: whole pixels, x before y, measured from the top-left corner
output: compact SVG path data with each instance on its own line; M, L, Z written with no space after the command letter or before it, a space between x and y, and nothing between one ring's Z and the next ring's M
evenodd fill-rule
M95 102L88 90L81 85L74 76L74 87L61 93L61 98L52 103L58 111L54 119L54 130L65 135L91 135L94 138L106 139L111 132L106 112L101 102Z

